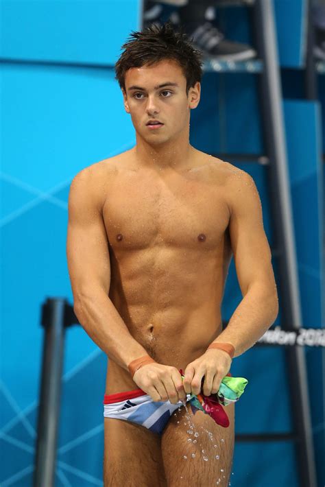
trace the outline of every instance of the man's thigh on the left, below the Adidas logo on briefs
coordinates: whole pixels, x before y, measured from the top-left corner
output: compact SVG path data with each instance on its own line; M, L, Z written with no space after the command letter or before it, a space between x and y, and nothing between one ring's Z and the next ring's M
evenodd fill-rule
M165 487L161 437L129 421L104 418L104 487Z

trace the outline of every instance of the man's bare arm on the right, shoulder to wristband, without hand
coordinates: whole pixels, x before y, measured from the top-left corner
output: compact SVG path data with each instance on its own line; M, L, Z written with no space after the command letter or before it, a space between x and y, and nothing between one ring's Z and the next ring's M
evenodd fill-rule
M278 316L278 294L263 228L261 200L253 178L238 170L229 189L229 230L243 299L226 329L214 340L232 344L234 357L253 346Z

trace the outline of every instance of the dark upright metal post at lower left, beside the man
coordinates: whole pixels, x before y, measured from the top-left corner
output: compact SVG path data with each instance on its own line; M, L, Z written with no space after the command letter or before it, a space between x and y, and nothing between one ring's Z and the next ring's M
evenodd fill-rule
M43 305L43 368L38 409L38 436L34 487L53 487L60 412L64 347L64 298L48 299Z

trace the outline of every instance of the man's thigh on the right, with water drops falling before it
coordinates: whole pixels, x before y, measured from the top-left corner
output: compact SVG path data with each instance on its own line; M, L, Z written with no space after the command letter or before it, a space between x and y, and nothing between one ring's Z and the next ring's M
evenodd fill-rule
M225 410L228 428L217 425L202 411L193 415L189 404L171 416L161 439L168 486L228 486L234 451L234 404Z

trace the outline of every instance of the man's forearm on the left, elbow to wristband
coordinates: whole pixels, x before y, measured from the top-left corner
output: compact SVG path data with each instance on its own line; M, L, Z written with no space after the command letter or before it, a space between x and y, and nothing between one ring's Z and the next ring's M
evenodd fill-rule
M93 342L119 366L128 370L134 359L147 355L136 342L119 312L103 289L75 300L75 315Z

